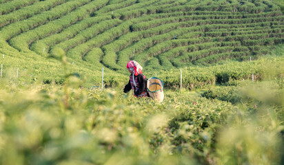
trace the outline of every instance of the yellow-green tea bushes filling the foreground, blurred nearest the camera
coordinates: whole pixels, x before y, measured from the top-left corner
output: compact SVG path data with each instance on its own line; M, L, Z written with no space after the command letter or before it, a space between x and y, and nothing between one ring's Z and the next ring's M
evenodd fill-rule
M281 164L283 81L269 75L206 97L166 90L161 104L77 76L63 86L1 78L0 162Z

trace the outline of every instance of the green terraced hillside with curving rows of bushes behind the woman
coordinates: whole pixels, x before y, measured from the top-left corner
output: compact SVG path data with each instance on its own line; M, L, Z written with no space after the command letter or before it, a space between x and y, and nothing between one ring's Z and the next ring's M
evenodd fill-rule
M129 60L156 72L256 59L284 41L281 7L270 0L0 3L1 63L47 81L60 79L60 63L47 59L59 49L72 71L96 80L104 67L115 81Z

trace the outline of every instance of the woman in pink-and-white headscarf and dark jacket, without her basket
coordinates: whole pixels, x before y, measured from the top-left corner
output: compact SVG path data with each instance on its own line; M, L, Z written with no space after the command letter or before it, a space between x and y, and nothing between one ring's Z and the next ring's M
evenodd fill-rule
M126 68L130 72L130 78L128 84L125 85L123 92L127 93L132 89L135 97L147 97L147 79L142 74L143 67L141 67L141 65L139 65L136 61L129 61Z

